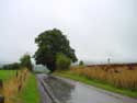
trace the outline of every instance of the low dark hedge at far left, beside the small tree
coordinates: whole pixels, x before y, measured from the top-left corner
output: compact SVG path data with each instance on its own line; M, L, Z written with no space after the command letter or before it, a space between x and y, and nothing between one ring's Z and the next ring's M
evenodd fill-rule
M4 70L18 70L20 68L21 68L21 65L19 62L13 62L13 64L4 65L1 69L4 69Z

